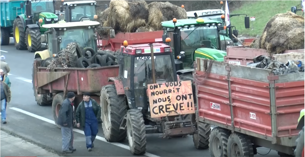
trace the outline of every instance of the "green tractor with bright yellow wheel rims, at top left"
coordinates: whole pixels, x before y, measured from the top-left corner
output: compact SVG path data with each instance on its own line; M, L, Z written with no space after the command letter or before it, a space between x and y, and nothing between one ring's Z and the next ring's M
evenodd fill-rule
M45 42L44 24L58 22L55 14L56 1L25 1L25 14L18 15L13 24L13 36L16 49L27 49L36 52L41 48L41 42ZM20 3L24 8L24 3Z

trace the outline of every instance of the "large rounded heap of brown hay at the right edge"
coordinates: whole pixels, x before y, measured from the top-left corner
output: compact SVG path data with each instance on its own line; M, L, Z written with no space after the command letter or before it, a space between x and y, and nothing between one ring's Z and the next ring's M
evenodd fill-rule
M266 49L271 56L287 49L304 49L304 17L292 12L273 16L250 47Z

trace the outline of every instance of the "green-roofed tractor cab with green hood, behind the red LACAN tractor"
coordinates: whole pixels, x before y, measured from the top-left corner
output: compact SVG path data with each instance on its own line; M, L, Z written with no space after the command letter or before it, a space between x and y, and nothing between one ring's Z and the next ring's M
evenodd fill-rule
M174 18L173 21L162 22L163 43L167 37L171 39L174 57L182 60L184 69L192 69L196 57L223 61L226 50L221 46L221 25L221 22L210 19Z

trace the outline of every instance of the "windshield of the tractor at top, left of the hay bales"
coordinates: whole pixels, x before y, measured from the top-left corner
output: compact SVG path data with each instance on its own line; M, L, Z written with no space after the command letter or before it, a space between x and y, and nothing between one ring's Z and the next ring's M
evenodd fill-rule
M95 5L77 5L71 9L72 21L80 21L82 17L87 17L93 20L96 15Z

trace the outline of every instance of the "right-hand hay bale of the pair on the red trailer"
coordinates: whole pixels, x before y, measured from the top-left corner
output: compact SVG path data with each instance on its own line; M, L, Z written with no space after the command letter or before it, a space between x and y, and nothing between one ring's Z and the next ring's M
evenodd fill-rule
M152 2L148 5L148 24L155 30L162 30L161 22L176 19L187 19L185 9L170 2Z

